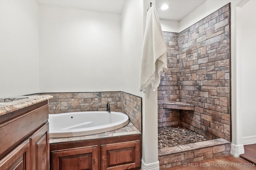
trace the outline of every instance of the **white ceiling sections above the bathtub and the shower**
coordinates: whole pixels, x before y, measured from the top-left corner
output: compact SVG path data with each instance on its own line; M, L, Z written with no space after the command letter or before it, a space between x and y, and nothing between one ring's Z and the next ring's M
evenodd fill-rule
M156 0L156 9L160 19L180 21L205 1L206 0ZM81 10L122 14L126 0L38 0L38 2ZM162 4L168 4L169 8L164 11L161 10L160 7Z

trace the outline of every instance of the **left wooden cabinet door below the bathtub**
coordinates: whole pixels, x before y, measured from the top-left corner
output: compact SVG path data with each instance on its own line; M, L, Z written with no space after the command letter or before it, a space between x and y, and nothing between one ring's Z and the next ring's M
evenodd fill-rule
M98 170L98 147L52 151L52 170Z

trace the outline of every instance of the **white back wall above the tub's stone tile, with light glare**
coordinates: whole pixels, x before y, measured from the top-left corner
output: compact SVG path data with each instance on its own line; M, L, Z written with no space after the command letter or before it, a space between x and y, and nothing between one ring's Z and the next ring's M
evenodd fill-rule
M121 16L40 5L40 92L121 89Z

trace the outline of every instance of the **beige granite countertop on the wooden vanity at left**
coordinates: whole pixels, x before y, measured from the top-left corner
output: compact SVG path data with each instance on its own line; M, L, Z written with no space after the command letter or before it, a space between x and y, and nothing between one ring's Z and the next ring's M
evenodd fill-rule
M53 98L50 95L0 97L0 116Z

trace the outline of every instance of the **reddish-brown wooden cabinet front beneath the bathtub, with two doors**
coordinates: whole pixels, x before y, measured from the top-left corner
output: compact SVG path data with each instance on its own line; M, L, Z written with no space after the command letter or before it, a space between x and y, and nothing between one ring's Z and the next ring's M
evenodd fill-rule
M142 135L50 144L52 170L139 170Z

